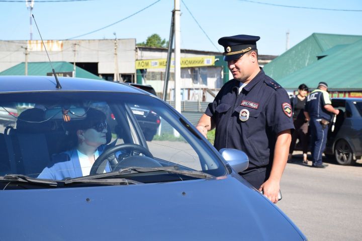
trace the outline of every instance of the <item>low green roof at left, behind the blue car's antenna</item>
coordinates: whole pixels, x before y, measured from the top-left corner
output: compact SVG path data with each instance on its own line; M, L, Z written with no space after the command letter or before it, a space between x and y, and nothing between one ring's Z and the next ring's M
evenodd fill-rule
M72 72L73 65L68 62L52 62L54 70L56 73L60 72ZM28 75L47 75L51 73L52 68L49 62L29 62L28 63ZM0 75L25 75L25 63L17 64L3 72L0 72ZM101 77L92 74L82 68L75 66L75 76L78 78L88 78L88 79L102 79Z

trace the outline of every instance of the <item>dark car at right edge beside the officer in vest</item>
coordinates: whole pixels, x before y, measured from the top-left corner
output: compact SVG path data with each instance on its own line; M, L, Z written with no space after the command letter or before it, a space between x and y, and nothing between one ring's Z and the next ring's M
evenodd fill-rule
M354 165L362 156L362 98L333 98L339 109L334 131L329 126L324 154L340 165Z

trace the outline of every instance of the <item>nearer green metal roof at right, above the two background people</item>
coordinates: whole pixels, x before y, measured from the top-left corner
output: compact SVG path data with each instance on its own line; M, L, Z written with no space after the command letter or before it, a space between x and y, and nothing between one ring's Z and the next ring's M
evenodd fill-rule
M286 89L301 83L316 88L320 81L330 90L362 90L362 39L335 49L326 57L278 80Z

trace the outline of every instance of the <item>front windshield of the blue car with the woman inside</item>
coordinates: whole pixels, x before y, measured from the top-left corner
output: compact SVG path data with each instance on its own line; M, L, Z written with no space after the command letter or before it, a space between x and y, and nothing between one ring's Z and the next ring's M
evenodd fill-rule
M5 112L0 116L0 176L71 180L127 170L122 178L144 183L226 173L215 150L153 96L6 93L0 95L0 109ZM178 171L167 172L173 169ZM185 178L181 171L193 175Z

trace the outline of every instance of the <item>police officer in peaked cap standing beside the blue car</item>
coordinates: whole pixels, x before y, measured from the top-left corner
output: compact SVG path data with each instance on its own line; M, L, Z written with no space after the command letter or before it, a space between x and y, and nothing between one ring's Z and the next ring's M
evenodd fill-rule
M239 174L276 203L294 125L287 92L259 68L259 39L250 35L219 39L234 78L220 89L196 128L205 137L216 128L217 150L244 151L249 166Z

